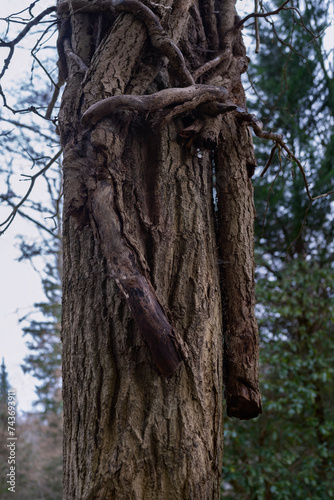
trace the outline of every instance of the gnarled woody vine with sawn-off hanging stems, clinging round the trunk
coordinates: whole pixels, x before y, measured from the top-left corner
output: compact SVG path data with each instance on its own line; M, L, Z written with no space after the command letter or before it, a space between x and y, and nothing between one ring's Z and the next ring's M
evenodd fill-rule
M277 9L277 12L286 8L287 3L286 1L281 8ZM269 167L276 149L285 150L289 158L296 160L303 174L307 193L313 200L308 190L303 167L286 146L282 136L264 131L260 120L247 112L240 81L240 75L246 71L248 65L240 31L243 20L233 14L233 26L226 24L225 31L220 33L220 38L223 40L221 52L212 60L207 61L191 72L187 68L181 50L165 32L158 16L140 1L60 2L58 3L58 14L61 16L61 29L58 49L60 68L65 78L71 73L79 72L83 75L82 81L84 84L87 75L89 75L89 68L86 67L84 61L75 54L71 47L68 35L69 16L76 11L100 12L102 10L111 11L115 15L131 13L136 19L142 21L147 29L151 45L168 61L169 71L172 74L173 81L178 82L178 86L164 88L158 92L145 95L113 95L94 102L83 110L78 125L78 136L81 137L83 143L85 143L85 138L89 136L91 130L99 127L100 123L103 124L103 120L108 120L115 113L126 112L129 114L131 112L141 114L151 123L152 127L162 126L177 116L187 115L192 117L192 123L179 130L179 136L187 140L191 139L191 144L197 143L200 147L209 147L211 150L219 151L219 144L222 141L222 116L230 115L234 123L240 128L241 136L245 137L246 149L249 148L249 151L245 153L247 156L246 177L252 176L256 166L252 141L247 132L251 127L258 137L274 142L266 168ZM263 16L263 14L259 13L254 15L255 17ZM221 30L223 29L224 25L222 23ZM218 34L216 35L218 36ZM90 144L85 147L89 151L92 149ZM80 149L78 144L76 148ZM92 158L95 157L94 152L90 153L90 155ZM71 152L68 151L68 148L67 150L65 148L64 164L69 165L71 162L72 165L75 164L78 161L77 156L75 148L72 148ZM65 206L65 209L68 214L77 218L79 225L82 222L83 207L88 210L92 226L100 238L111 275L116 280L127 301L156 366L162 375L169 377L176 371L182 360L187 357L187 346L183 344L181 336L173 327L172 318L156 295L145 259L138 254L138 249L133 246L122 230L122 223L119 220L117 209L117 188L115 188L113 181L108 174L101 174L101 169L97 176L98 180L96 180L94 172L88 173L84 177L86 187L83 188L83 191L86 191L86 194L83 195L83 199L79 202L78 199L80 200L82 193L79 196L72 196L72 201L67 207ZM224 177L224 189L228 189L229 182L233 183L234 181L229 178L227 173ZM247 189L250 190L250 193L252 192L250 187ZM252 203L251 197L248 200L249 203ZM240 214L234 214L233 211L229 212L229 218L233 219L233 217L240 217ZM235 222L238 223L238 221ZM233 220L229 221L229 224L233 223ZM252 224L252 220L250 220L250 224ZM252 232L249 234L252 235ZM245 240L244 245L250 247L247 251L252 259L251 237ZM242 248L241 252L244 252L244 250ZM230 251L235 253L240 249L232 244ZM240 261L238 265L242 265L242 259L238 259L238 256L236 261ZM252 281L252 278L249 279ZM224 318L227 412L230 416L238 418L254 418L262 411L258 387L257 326L253 311L255 302L254 284L250 283L246 286L248 288L244 290L244 297L246 298L241 298L241 301L245 300L245 304L240 307L240 304L234 304L236 290L245 288L245 285L235 283L235 277L231 278L228 274L224 277L224 281L223 294L227 304ZM241 311L242 309L250 309L247 314L253 319L246 318L242 320L240 318L241 326L238 329L235 325L229 324L229 321L235 322L235 311ZM230 318L233 318L233 320ZM241 335L240 338L234 339L234 332L239 330L241 330L241 334L239 332L237 335ZM241 352L244 352L244 361L242 363L237 361L237 358L234 361L234 348L240 347L240 342L244 345L241 348ZM240 365L239 370L238 366Z

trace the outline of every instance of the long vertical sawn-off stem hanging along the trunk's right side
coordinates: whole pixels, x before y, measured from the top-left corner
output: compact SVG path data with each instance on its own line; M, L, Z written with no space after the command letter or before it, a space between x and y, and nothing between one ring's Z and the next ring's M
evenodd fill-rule
M248 177L246 127L224 118L217 155L219 247L222 265L224 379L227 414L251 419L262 413L259 341L254 314L253 187Z

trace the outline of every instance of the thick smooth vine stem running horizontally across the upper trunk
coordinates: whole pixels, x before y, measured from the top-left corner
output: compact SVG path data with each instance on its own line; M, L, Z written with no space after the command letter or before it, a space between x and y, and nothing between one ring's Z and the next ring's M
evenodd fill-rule
M204 101L225 102L227 90L213 85L191 85L184 88L169 88L150 95L117 95L103 99L92 106L82 116L85 125L96 125L103 118L116 111L129 110L152 113L167 106L193 101L193 107ZM188 108L187 108L188 109ZM181 111L182 112L182 111Z

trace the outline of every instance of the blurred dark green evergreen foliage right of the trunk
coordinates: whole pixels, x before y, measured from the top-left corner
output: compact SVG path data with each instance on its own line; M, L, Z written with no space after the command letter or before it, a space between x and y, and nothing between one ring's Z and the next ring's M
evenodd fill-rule
M300 8L324 30L327 2ZM329 55L282 13L261 31L250 71L267 126L289 135L315 194L333 189ZM278 153L255 182L264 414L247 428L227 421L224 497L321 500L334 497L333 211L330 199L310 207L296 165Z

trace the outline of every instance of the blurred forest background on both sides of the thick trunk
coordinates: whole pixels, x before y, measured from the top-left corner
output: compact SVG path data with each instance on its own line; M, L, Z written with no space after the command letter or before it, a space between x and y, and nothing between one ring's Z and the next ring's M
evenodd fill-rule
M278 5L261 8L265 12ZM245 27L251 56L245 88L250 111L261 117L266 129L284 134L316 196L334 185L334 50L323 41L333 4L313 0L293 6L278 16L260 18L257 55L254 20ZM29 19L29 10L1 19L1 41L12 40ZM27 46L33 57L31 72L24 84L1 87L0 175L6 189L0 200L8 218L0 221L0 231L15 224L14 218L38 229L33 240L18 236L18 246L20 259L29 260L40 273L45 294L44 301L21 317L30 350L22 368L38 384L36 411L19 415L20 500L61 498L61 170L54 127L57 94L51 91L58 83L56 30L55 17L32 30ZM1 77L5 72L4 66ZM300 171L279 149L272 150L272 163L261 176L272 144L256 139L255 148L264 412L248 422L226 417L222 498L326 500L334 498L333 196L311 204ZM42 199L32 191L21 204L25 191L15 184L19 174L25 176L28 191L42 180ZM2 442L11 386L5 361L0 380ZM1 455L0 498L6 499L3 448Z

